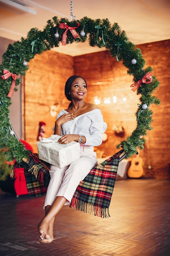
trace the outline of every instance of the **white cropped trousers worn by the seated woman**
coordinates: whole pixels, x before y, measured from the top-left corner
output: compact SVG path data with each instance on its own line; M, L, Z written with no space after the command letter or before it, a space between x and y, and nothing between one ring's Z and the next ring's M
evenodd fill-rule
M69 204L80 181L88 175L97 164L96 153L93 146L80 145L80 158L69 166L58 168L50 166L50 183L46 191L44 207L52 205L57 196L67 199Z

